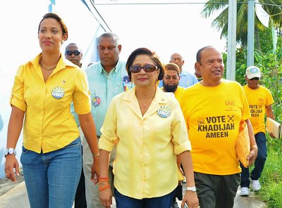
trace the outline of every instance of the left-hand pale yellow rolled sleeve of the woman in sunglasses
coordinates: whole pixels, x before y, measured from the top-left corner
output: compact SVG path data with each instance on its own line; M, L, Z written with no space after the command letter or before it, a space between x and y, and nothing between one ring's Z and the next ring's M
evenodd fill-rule
M116 135L116 122L116 99L114 98L109 105L104 119L104 124L101 128L102 136L99 139L99 149L106 150L108 152L111 152L111 150L114 149L114 146L118 142L118 136Z

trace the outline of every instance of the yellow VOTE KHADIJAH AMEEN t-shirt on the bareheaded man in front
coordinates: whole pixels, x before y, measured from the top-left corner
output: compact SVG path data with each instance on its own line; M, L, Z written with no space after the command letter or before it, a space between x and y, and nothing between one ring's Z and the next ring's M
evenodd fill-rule
M215 175L239 173L235 142L240 122L250 118L242 86L226 79L214 87L195 84L183 92L180 107L192 144L194 171Z

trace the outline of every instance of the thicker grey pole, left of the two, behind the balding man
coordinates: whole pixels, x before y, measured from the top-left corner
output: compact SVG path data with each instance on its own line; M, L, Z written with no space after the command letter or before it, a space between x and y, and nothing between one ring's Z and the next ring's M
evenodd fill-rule
M227 66L226 79L235 80L236 70L236 25L237 25L237 1L228 1L228 42L227 42Z

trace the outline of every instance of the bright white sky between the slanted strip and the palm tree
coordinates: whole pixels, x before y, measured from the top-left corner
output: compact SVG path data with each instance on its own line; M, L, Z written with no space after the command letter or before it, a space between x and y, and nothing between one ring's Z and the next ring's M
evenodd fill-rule
M95 1L99 13L121 39L121 58L124 60L136 48L147 47L164 63L168 63L172 53L180 53L185 61L184 70L194 72L195 57L200 48L212 45L219 51L226 50L226 39L220 39L220 32L211 27L214 16L206 19L201 15L204 4L116 5L128 2L144 4L147 1Z

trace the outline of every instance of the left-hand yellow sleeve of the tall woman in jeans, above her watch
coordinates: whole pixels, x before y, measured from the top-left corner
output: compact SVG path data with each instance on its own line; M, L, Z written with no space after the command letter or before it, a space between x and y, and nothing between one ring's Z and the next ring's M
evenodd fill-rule
M15 81L13 83L13 88L11 91L10 104L16 106L20 110L24 112L27 109L27 105L25 103L25 87L24 87L24 67L20 66L16 73Z

